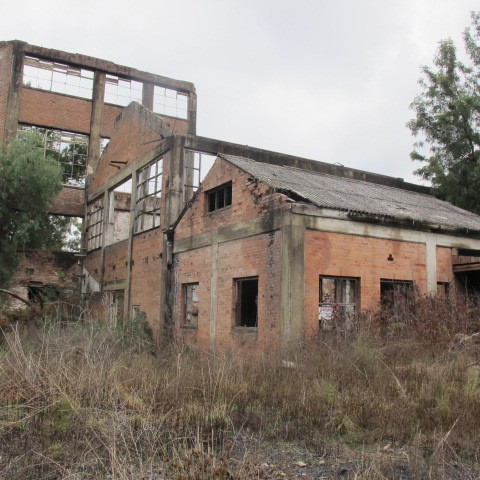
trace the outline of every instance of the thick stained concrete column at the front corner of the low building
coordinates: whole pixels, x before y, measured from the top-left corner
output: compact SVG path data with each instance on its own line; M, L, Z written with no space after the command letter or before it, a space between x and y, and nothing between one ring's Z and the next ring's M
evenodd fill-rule
M280 345L283 358L295 358L305 329L305 225L288 212L282 226Z

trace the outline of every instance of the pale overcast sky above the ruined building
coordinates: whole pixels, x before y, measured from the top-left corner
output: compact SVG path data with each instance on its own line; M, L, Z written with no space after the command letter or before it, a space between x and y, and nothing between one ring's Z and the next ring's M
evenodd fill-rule
M420 66L478 0L22 0L4 40L188 80L199 135L415 180Z

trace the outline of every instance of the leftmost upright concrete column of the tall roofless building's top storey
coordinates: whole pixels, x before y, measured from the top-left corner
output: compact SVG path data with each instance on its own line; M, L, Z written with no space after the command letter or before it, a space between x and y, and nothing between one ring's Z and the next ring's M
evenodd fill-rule
M24 43L13 43L13 61L8 88L7 109L5 112L4 142L9 142L17 135L20 90L23 81Z

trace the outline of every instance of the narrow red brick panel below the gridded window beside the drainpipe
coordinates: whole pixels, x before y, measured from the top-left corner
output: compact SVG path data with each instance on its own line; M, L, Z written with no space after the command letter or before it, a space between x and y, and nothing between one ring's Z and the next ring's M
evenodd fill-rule
M160 294L163 234L160 228L140 233L133 238L131 305L140 305L157 338L160 321ZM131 313L131 312L129 312Z

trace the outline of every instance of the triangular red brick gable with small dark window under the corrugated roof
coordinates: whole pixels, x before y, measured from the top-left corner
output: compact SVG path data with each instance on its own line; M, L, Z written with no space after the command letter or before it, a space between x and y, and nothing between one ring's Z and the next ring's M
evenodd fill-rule
M206 213L205 192L229 181L232 182L232 205ZM260 218L267 211L287 208L287 205L284 195L271 193L271 188L265 183L254 181L247 173L217 158L192 206L175 229L175 239Z

